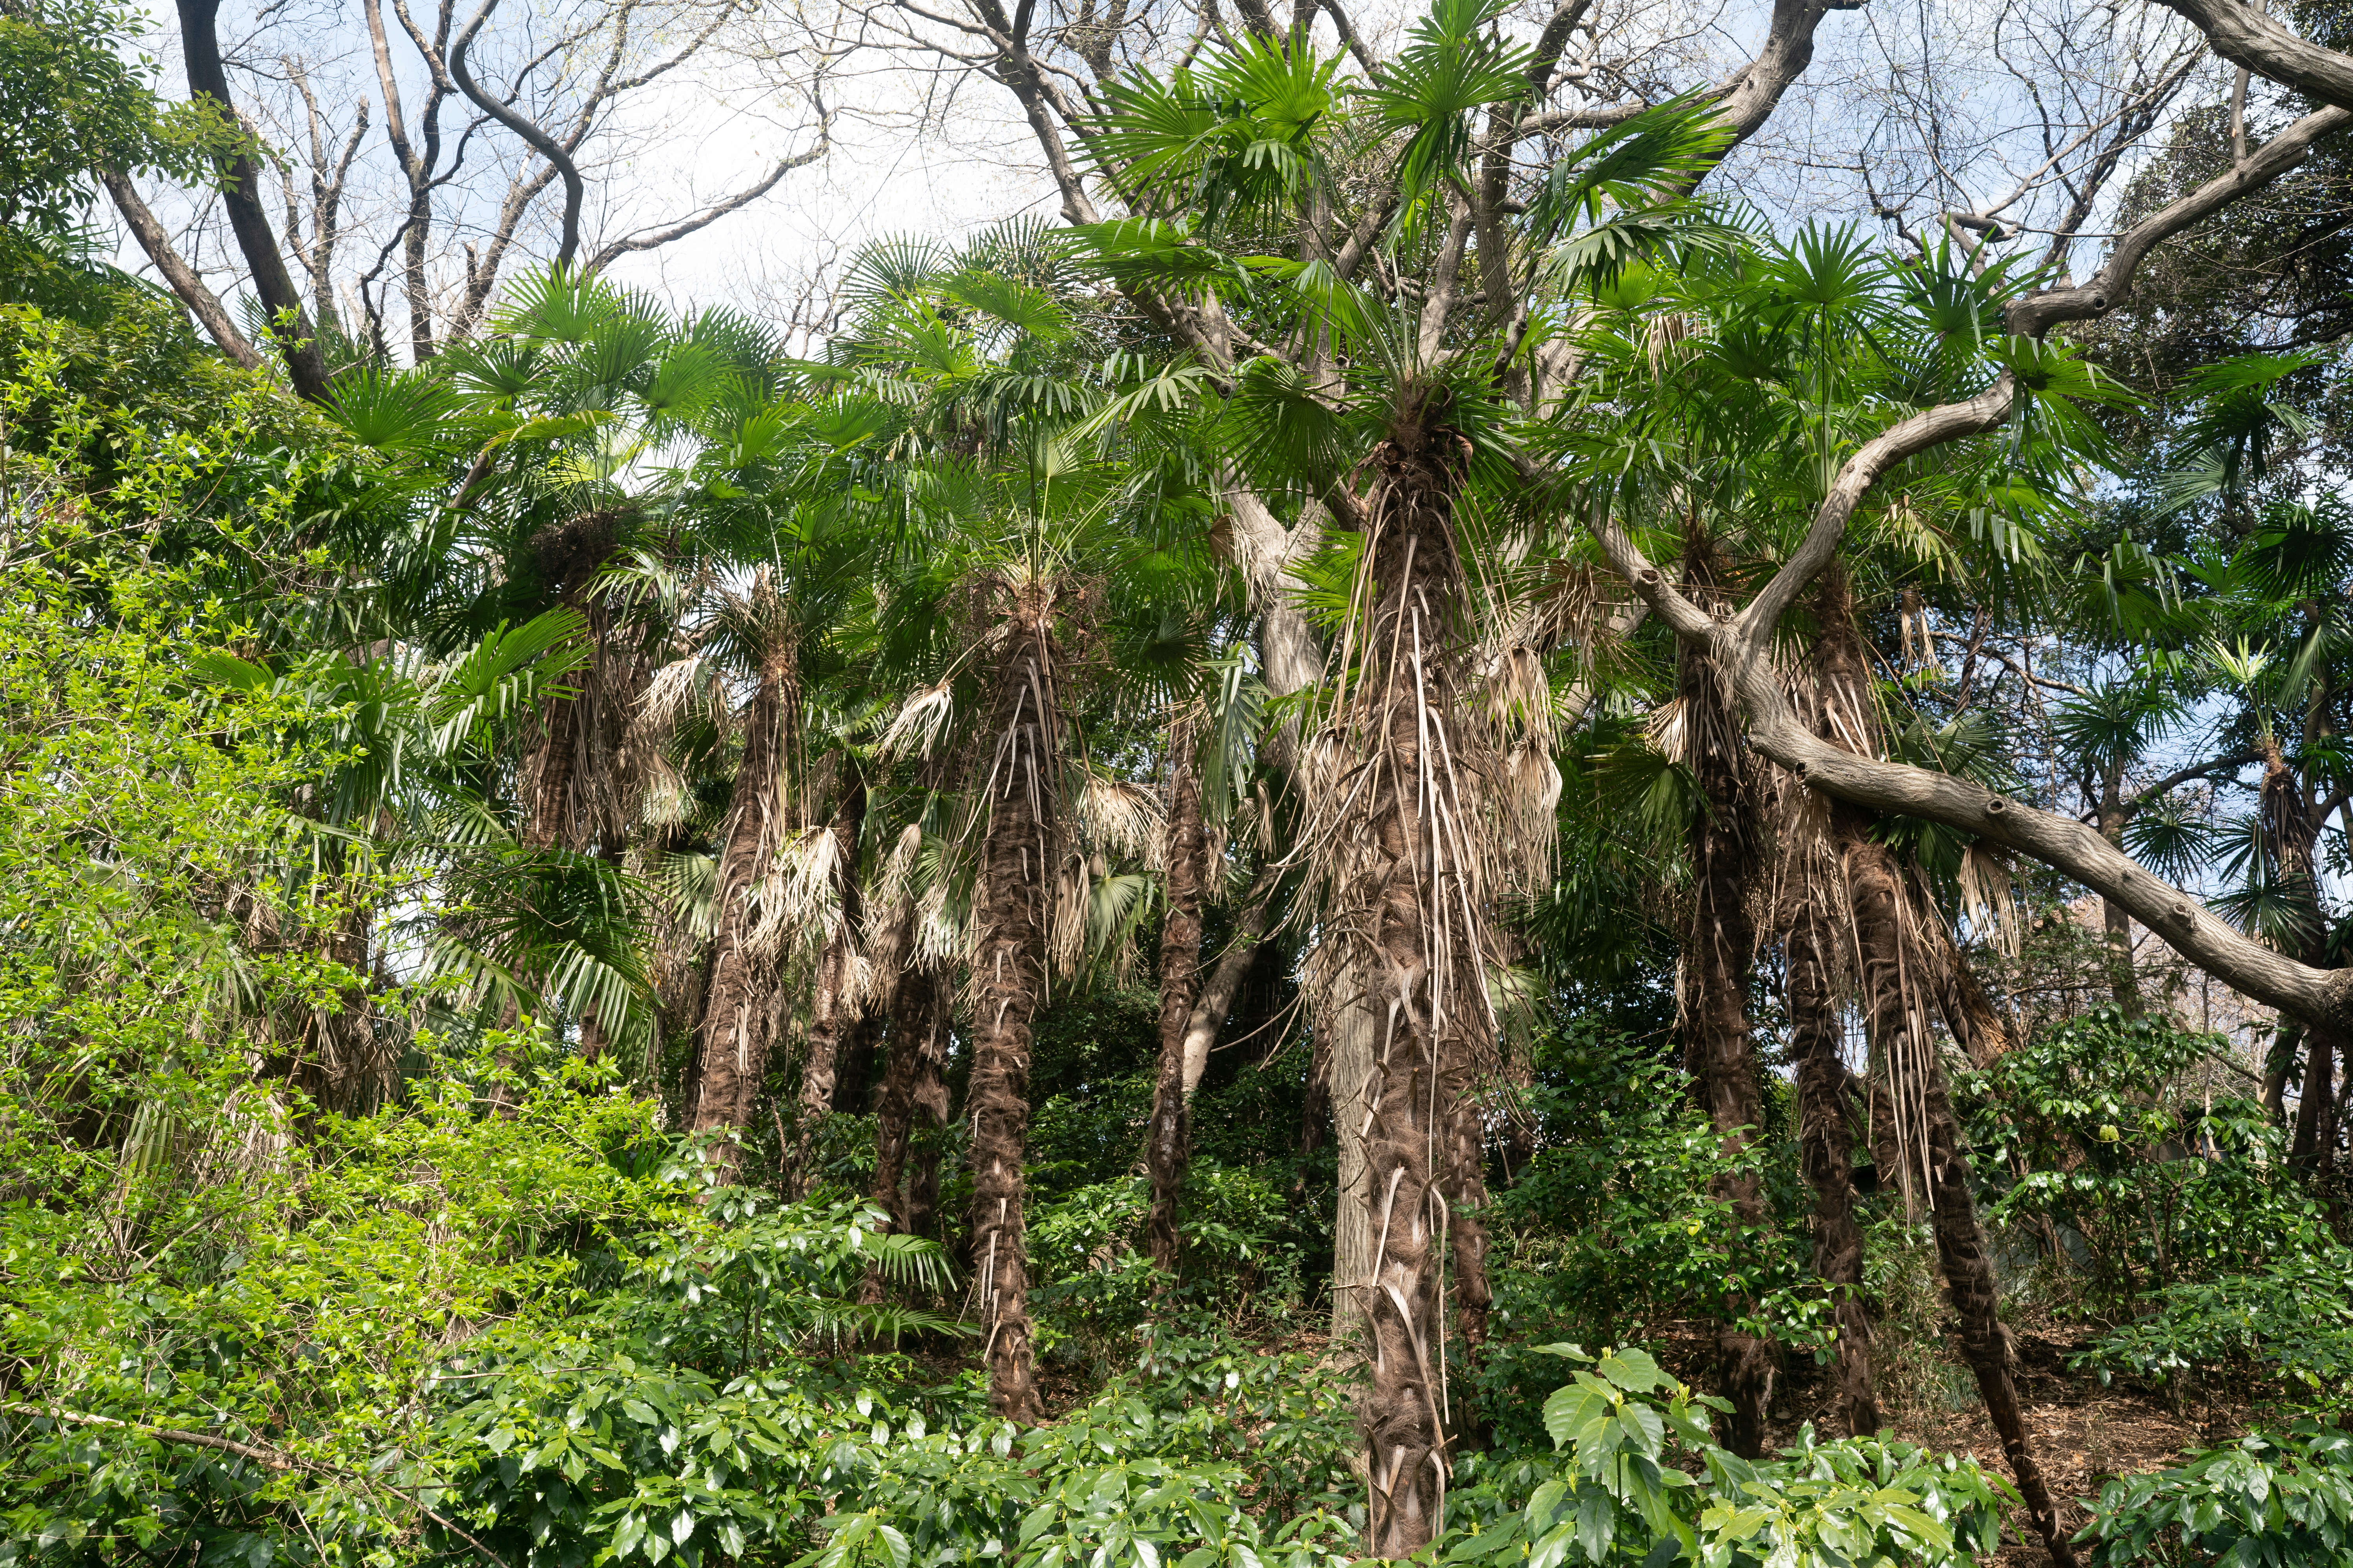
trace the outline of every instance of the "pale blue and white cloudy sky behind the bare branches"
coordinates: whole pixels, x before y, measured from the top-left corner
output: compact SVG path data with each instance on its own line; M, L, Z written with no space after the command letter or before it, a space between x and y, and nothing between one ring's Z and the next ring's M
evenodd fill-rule
M708 2L645 0L640 40L656 52L675 45L704 14L692 7ZM501 80L504 66L544 42L551 26L584 14L579 5L504 5L511 9L494 16L475 49L485 80ZM652 289L671 306L734 303L807 320L842 261L875 237L955 240L1026 212L1054 216L1035 141L1005 89L969 75L927 73L908 54L840 49L838 40L861 24L847 9L816 9L828 5L833 0L779 0L736 14L696 63L638 92L598 132L593 146L602 160L591 172L591 242L635 223L675 221L715 193L748 183L781 153L809 148L812 61L828 56L821 94L833 108L831 155L786 174L765 200L682 242L624 256L612 268L616 280ZM1522 9L1537 16L1534 5ZM1720 80L1762 38L1767 14L1765 0L1600 0L1595 9L1612 47L1624 45L1652 92ZM1402 0L1386 0L1355 21L1379 47L1405 19ZM1527 31L1529 24L1515 16L1511 26ZM329 146L348 134L362 101L374 110L346 190L346 219L355 228L346 256L374 256L398 223L402 193L384 146L381 94L358 0L268 0L261 9L247 2L242 12L231 0L221 31L226 52L245 68L235 75L238 89L252 94L242 108L296 158L308 141L292 87L296 75L313 87ZM2085 118L2097 122L2101 82L2129 71L2132 61L2160 59L2181 40L2167 12L2106 9L2089 0L1875 0L1833 12L1807 78L1713 188L1758 205L1784 228L1812 219L1868 226L1871 200L1857 174L1868 150L1882 195L1915 193L1913 223L1929 216L1937 200L1981 205L2042 158L2026 96L2005 59L2033 73L2047 101L2092 103ZM155 24L151 49L167 61L162 89L179 94L167 16ZM393 52L414 118L421 63L398 31ZM461 122L456 113L445 118ZM504 174L520 162L522 148L492 127L468 153L475 169L499 165ZM2141 155L2127 155L2127 169ZM475 221L487 221L499 190L504 179L478 202ZM151 202L174 223L200 216L198 205L172 193L151 193ZM2052 200L2031 197L2005 216L2049 221L2052 209ZM553 221L555 202L544 197L527 221L525 247L553 252ZM224 294L235 292L240 280L212 233L216 223L198 228L188 249L200 266L214 268ZM125 247L120 259L146 270L136 249ZM454 256L447 270L454 273Z

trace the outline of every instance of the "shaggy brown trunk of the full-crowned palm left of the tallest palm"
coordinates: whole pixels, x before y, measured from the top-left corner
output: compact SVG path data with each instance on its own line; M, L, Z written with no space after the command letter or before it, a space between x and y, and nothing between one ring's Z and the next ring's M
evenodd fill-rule
M1005 623L988 703L995 738L988 835L981 846L979 945L972 959L972 1260L988 1324L988 1408L1045 1420L1031 1373L1028 1157L1031 1030L1045 992L1047 889L1059 863L1054 769L1059 764L1056 668L1047 592L1026 590Z

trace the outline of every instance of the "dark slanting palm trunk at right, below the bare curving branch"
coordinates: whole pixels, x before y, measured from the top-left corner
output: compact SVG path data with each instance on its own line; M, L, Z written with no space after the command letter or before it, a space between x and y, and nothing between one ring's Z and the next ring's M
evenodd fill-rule
M1960 1349L1977 1375L1986 1415L1993 1418L1993 1429L2002 1439L2002 1453L2009 1458L2019 1495L2026 1497L2026 1512L2042 1533L2052 1561L2071 1568L2075 1549L2059 1523L2042 1467L2035 1465L2019 1410L2019 1389L2009 1375L2009 1331L2000 1321L1986 1232L1977 1220L1977 1197L1969 1190L1969 1161L1960 1150L1960 1124L1953 1119L1944 1063L1927 1032L1927 1004L1920 994L1927 964L1911 938L1904 882L1885 844L1859 835L1847 846L1847 898L1854 907L1854 931L1861 947L1871 1032L1889 1063L1915 1074L1918 1126L1927 1145L1920 1159L1927 1166L1937 1255L1944 1262L1953 1316L1960 1321ZM1904 1110L1904 1105L1897 1107L1899 1119Z

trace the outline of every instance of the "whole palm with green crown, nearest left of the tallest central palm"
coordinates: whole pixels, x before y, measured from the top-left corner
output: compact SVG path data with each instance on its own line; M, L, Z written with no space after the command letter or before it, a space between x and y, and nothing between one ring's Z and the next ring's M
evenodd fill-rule
M915 273L849 336L840 378L896 414L871 475L889 520L871 635L908 696L880 748L955 759L953 842L976 849L958 877L972 889L974 1298L991 1403L1026 1422L1042 1415L1024 1241L1031 1032L1056 947L1073 945L1073 896L1094 882L1068 703L1125 475L1106 440L1073 435L1096 397L1047 292Z

